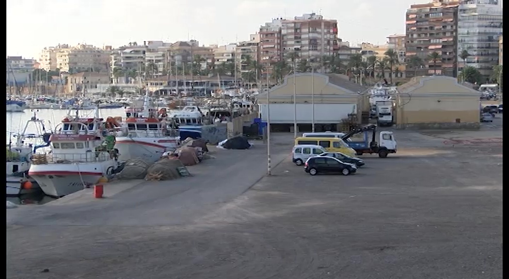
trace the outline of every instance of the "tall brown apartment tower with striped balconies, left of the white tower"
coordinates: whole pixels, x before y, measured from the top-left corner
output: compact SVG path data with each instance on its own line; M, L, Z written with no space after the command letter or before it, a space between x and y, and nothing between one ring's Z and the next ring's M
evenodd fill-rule
M424 65L417 75L457 76L458 1L433 0L427 4L411 5L406 12L406 59L417 55ZM432 60L430 54L438 53ZM406 76L413 77L415 69L406 68Z

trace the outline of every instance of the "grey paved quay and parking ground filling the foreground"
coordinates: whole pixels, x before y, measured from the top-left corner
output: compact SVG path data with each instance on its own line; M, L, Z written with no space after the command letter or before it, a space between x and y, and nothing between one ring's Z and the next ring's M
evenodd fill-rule
M7 277L501 278L500 143L396 133L397 154L351 176L287 159L257 182L256 146L108 200L9 209ZM290 150L277 136L274 161Z

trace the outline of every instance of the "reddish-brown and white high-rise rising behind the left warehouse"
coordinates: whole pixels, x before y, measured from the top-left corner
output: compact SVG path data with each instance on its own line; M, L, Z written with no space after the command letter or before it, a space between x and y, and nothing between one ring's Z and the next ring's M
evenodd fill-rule
M337 20L316 13L273 19L260 27L260 48L261 63L288 59L290 53L300 59L333 55L339 48Z

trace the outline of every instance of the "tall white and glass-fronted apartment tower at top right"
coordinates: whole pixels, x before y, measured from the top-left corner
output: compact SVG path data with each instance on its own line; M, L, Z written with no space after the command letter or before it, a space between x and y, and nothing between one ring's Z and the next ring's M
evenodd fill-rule
M458 55L469 54L465 60L458 57L459 70L471 66L489 78L499 59L502 1L461 0L458 9Z

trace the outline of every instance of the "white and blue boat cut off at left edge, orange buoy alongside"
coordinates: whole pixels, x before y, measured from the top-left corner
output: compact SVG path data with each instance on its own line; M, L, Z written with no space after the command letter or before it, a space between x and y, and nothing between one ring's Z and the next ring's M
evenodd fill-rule
M28 134L30 125L35 126L35 134ZM31 157L35 150L49 146L51 133L46 131L44 121L36 114L26 122L23 132L16 135L16 143L7 146L6 160L6 195L19 196L40 191L39 185L28 176Z

